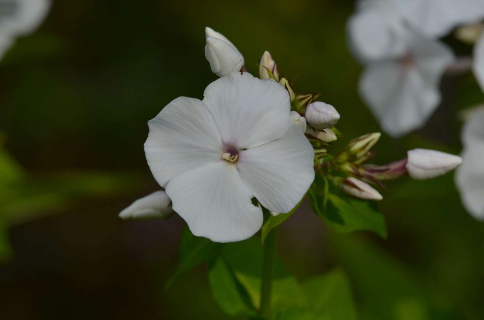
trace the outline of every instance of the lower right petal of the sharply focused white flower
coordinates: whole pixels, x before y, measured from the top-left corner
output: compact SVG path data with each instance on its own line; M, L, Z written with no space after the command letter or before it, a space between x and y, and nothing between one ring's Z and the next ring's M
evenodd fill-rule
M304 197L314 180L314 150L295 125L273 142L240 152L240 177L274 212L287 213Z

